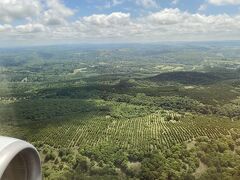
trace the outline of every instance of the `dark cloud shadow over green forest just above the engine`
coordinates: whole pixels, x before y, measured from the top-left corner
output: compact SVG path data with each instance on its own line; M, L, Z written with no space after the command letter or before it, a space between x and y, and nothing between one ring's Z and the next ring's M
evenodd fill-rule
M3 107L2 107L3 108ZM2 109L1 108L1 109ZM101 108L91 99L73 99L67 97L32 97L18 100L7 106L12 111L4 111L2 123L15 131L10 136L31 141L31 136L39 134L47 126L58 128L73 120L85 120L84 116L105 114L108 109ZM45 134L41 134L45 136Z

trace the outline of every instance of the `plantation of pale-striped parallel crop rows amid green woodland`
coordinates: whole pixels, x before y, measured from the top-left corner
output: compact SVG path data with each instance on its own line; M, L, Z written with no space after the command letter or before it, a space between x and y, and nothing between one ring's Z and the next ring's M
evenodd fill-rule
M198 136L217 138L229 134L238 123L216 117L186 115L180 120L166 121L166 113L151 114L132 119L89 117L49 123L46 127L34 124L26 136L32 142L43 142L54 147L86 147L115 144L121 149L145 149L151 151L171 147ZM173 118L174 119L174 118ZM41 136L42 135L42 136Z

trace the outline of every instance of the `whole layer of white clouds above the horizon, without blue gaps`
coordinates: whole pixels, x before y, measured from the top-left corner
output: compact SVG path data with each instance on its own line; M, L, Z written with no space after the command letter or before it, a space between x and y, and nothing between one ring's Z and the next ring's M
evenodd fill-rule
M141 2L146 7L155 5L150 0ZM209 0L209 3L223 5L239 1ZM0 39L47 44L235 40L240 37L240 15L205 15L178 8L161 9L139 17L125 12L77 18L75 14L75 9L66 7L60 0L1 0Z

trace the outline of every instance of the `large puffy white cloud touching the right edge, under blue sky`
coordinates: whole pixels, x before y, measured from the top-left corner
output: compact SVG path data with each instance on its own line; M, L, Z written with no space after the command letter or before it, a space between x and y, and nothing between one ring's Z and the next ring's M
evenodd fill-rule
M240 16L202 15L182 12L179 9L165 9L147 17L152 32L164 29L172 37L231 38L231 33L240 35ZM159 33L160 34L160 33ZM239 36L240 37L240 36Z

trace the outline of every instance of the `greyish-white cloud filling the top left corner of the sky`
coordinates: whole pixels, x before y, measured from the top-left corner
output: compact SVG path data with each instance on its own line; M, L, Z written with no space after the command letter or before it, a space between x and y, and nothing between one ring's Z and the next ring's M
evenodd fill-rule
M1 0L0 22L12 22L14 20L35 17L41 11L38 0Z

